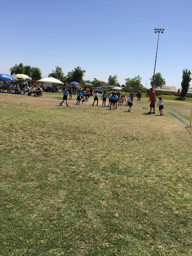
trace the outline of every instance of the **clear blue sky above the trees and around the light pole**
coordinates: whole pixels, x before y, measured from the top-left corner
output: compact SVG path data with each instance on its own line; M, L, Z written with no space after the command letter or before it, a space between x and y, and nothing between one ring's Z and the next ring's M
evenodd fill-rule
M155 72L180 87L191 65L191 0L9 0L1 4L0 73L14 64L37 66L42 77L62 67L85 69L85 80L140 75L150 87ZM7 10L7 11L6 11ZM3 33L4 32L4 33ZM192 86L192 85L191 85Z

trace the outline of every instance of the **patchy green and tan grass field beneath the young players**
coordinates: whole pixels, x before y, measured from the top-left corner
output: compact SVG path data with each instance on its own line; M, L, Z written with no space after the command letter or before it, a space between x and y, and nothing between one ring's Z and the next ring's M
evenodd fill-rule
M192 101L170 97L0 93L0 256L192 255Z

